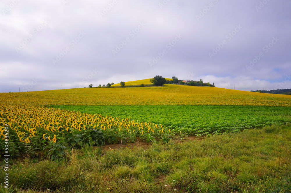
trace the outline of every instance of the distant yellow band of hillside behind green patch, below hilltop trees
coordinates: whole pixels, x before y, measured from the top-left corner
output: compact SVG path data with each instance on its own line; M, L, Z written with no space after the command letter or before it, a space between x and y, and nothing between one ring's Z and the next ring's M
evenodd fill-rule
M291 107L291 96L219 87L166 84L160 87L76 88L0 93L0 103L50 105L233 105Z

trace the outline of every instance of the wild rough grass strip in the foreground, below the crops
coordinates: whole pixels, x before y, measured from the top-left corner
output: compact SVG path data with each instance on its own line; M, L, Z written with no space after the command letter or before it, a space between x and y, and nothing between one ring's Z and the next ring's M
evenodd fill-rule
M62 161L11 160L8 192L291 191L291 124L148 148L100 148L68 150Z

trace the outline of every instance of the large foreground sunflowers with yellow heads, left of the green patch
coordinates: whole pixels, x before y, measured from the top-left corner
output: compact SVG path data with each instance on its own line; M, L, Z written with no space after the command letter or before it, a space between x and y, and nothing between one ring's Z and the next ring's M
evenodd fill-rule
M137 137L150 141L165 138L171 132L162 125L130 118L20 104L0 105L2 140L5 124L9 125L10 142L15 143L20 151L26 147L42 150L54 144L82 146L84 143L134 142ZM2 146L0 142L1 149Z

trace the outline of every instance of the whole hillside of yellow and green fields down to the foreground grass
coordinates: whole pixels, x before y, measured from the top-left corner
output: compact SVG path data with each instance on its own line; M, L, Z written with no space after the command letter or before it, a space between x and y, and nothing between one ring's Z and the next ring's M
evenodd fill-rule
M9 192L290 192L290 122L290 95L218 87L0 93Z

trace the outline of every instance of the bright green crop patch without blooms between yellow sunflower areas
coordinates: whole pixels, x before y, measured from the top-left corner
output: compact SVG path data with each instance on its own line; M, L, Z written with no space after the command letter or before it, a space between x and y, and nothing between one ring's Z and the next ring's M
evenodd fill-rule
M187 135L218 135L249 128L291 122L291 107L264 106L54 106L82 113L111 115L162 124L171 132ZM179 116L177 116L179 115Z

